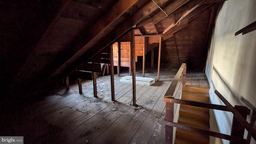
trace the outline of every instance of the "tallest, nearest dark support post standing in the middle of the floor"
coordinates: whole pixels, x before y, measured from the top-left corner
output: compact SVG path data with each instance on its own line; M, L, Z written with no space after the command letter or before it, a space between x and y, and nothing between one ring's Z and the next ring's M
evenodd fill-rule
M130 60L132 68L132 104L136 106L136 66L135 66L135 43L134 43L134 30L132 30L132 42L130 48Z

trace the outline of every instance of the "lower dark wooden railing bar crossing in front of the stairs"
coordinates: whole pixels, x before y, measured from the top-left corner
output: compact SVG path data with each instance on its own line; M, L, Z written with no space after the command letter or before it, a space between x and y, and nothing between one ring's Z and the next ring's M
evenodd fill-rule
M176 123L176 122L169 122L167 120L164 120L164 124L167 125L167 126L173 126L173 127L176 127L176 128L181 128L181 129L184 129L184 130L191 130L193 132L201 132L202 134L205 134L207 136L214 136L216 138L222 138L222 139L225 139L225 140L235 140L236 142L238 142L238 144L244 144L246 142L245 139L241 140L240 138L236 138L234 136L230 136L230 135L227 135L227 134L221 134L221 133L213 132L213 131L210 131L210 130L203 130L203 129L195 128L195 127L188 126L188 125L185 125L185 124L179 124L179 123Z

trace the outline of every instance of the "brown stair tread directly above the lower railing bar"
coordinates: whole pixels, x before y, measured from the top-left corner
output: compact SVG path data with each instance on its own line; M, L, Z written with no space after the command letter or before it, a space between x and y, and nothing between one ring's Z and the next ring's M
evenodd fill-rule
M179 117L178 123L185 124L185 125L188 125L188 126L193 126L195 128L201 128L201 129L204 129L204 130L210 130L209 123L202 122L202 121L199 121L199 120L194 120L194 119L191 119L191 118L182 117L182 116Z

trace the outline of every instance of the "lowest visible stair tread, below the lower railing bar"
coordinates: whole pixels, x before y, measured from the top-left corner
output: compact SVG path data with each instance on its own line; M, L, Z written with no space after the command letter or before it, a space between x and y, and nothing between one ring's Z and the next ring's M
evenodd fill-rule
M184 130L180 128L177 128L176 136L184 140L192 141L196 144L209 144L210 141L209 136L204 133L195 132L192 130Z

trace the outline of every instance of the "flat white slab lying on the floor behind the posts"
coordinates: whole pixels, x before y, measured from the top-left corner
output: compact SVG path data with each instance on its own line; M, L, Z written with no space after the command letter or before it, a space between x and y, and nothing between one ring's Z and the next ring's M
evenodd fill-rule
M120 82L132 83L132 76L124 76L120 79ZM155 78L144 78L144 77L136 76L136 84L151 86L155 82L156 82Z

